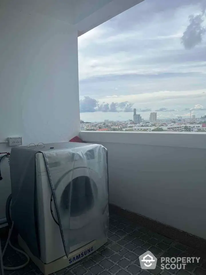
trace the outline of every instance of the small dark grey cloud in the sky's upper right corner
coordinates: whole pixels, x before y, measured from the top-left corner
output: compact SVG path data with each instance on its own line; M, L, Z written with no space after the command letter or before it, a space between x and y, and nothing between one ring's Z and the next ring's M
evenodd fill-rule
M181 42L184 45L185 49L194 48L196 45L200 44L203 40L203 35L206 32L205 26L202 23L205 20L205 8L202 14L199 15L190 15L189 16L189 25L183 33Z

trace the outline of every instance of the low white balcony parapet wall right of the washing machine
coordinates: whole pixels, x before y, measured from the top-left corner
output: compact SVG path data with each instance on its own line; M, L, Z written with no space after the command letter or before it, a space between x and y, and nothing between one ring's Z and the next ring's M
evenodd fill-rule
M80 135L108 149L110 203L206 239L205 134Z

